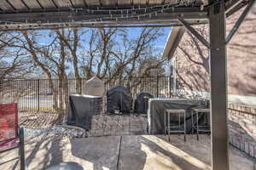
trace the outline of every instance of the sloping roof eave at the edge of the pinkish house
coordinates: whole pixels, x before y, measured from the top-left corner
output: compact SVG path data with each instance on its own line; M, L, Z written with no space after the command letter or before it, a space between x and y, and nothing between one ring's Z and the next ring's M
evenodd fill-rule
M166 40L166 45L162 54L162 58L172 59L177 45L181 41L185 31L185 28L181 26L172 27L172 30L170 31L169 36Z

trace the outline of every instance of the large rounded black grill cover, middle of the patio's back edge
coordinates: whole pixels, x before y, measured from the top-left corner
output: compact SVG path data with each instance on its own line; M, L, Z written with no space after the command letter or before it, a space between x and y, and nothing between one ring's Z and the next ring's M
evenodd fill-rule
M131 92L128 88L117 86L107 92L107 113L114 114L119 111L120 114L130 114L132 111Z

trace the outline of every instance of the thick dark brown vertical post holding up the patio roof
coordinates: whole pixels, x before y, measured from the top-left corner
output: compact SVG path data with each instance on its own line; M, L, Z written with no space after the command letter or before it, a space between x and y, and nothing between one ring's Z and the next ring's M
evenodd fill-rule
M212 170L229 170L224 0L209 8Z

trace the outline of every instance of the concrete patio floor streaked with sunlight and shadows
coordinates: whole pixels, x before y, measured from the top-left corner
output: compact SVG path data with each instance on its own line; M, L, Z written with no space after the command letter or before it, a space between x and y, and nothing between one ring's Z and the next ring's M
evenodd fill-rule
M196 170L211 169L210 136L125 135L68 139L41 136L26 139L28 170L44 169L61 161L76 161L84 170ZM16 156L17 150L0 155L0 162ZM254 160L230 146L230 169L253 170ZM0 165L1 170L19 169L19 161Z

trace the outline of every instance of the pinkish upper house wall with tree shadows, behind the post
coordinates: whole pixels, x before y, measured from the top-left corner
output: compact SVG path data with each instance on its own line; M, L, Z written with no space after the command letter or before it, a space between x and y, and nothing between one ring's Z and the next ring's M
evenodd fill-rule
M244 8L227 19L227 33L236 23ZM207 26L195 26L195 29L208 38ZM202 31L204 30L204 31ZM209 52L189 32L183 35L177 56L177 82L190 91L209 92ZM228 92L232 95L256 97L256 5L247 14L246 19L227 46ZM199 45L197 48L195 45Z

